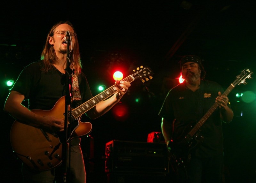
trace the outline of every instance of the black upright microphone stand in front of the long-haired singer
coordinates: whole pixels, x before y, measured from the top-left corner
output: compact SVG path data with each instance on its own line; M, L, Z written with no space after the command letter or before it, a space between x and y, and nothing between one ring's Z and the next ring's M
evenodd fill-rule
M64 140L62 144L62 167L63 167L63 182L66 182L67 180L67 154L68 154L68 139L70 140L70 133L68 134L68 117L71 119L71 107L70 112L68 112L68 108L71 104L71 96L70 96L70 88L69 86L72 85L71 83L71 69L70 69L70 60L69 60L69 45L70 45L70 39L67 41L67 62L66 62L66 81L65 81L65 87L66 87L66 98L65 98L65 118L64 118ZM70 144L69 144L70 145ZM70 156L70 154L69 154Z

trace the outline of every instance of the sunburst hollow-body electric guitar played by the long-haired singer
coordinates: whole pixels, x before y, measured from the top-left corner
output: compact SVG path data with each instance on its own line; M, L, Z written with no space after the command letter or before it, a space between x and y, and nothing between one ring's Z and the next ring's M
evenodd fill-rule
M131 83L134 80L142 80L142 82L144 82L145 80L152 79L151 75L153 72L148 67L140 66L140 68L137 68L134 72L135 73L122 81ZM69 120L67 131L71 132L68 140L91 133L92 124L90 122L81 122L81 115L112 96L116 92L116 87L119 87L119 84L113 85L77 108L71 109L71 112L70 108L68 108ZM65 114L65 96L61 97L49 111L31 111L40 116L55 116L62 119ZM62 143L63 139L65 139L63 135L64 134L61 132L47 132L44 129L29 126L15 120L11 127L10 140L13 152L23 163L27 164L32 169L45 171L61 164Z

